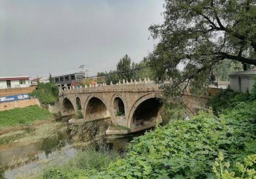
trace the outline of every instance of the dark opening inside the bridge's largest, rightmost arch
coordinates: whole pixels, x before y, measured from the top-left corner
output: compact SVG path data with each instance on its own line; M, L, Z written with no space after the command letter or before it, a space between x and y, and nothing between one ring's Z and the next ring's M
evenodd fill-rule
M156 121L161 118L159 113L162 106L159 98L149 98L141 102L132 115L131 128L156 125Z

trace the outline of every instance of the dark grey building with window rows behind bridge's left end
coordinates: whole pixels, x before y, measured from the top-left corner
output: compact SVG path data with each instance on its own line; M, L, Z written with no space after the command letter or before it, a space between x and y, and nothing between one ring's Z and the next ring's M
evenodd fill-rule
M65 88L66 86L72 86L74 82L83 82L84 73L60 75L52 77L52 79L58 87Z

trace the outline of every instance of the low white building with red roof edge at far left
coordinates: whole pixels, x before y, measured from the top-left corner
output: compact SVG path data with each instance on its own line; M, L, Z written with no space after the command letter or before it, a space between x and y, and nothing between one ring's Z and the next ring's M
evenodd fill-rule
M26 88L30 86L29 76L0 77L0 89Z

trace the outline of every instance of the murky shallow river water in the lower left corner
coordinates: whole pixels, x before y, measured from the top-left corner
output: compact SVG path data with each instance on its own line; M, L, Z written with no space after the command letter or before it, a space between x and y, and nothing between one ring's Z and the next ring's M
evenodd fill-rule
M58 152L59 150L62 150L62 153ZM63 133L59 133L55 137L44 138L35 143L2 144L0 145L0 161L4 167L0 166L0 179L4 177L15 178L18 173L32 171L40 166L41 160L49 159L55 155L63 154L68 158L69 155L76 152L74 151L75 149L69 144L67 134Z

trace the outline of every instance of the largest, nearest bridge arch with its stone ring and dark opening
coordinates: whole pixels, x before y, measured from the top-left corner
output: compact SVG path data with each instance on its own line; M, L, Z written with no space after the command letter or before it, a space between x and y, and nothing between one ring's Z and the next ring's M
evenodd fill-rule
M153 127L156 125L157 119L160 118L160 111L163 103L161 102L162 93L150 93L139 98L134 105L132 105L127 120L127 126L132 132L136 128L141 130L145 127Z

